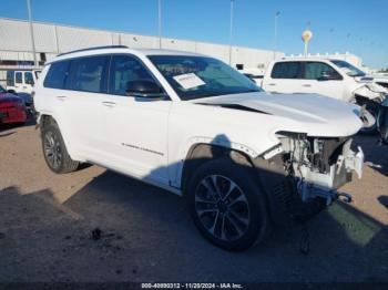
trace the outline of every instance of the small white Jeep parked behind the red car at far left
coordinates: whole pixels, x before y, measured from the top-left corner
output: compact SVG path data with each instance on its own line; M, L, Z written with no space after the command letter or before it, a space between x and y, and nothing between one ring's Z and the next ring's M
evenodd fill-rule
M18 94L31 94L40 73L40 70L7 71L7 90Z

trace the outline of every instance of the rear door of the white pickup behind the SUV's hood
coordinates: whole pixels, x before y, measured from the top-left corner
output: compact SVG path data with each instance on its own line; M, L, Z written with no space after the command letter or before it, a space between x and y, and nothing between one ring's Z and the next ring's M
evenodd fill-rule
M263 89L273 93L302 92L302 62L287 61L274 64L270 75L263 82Z

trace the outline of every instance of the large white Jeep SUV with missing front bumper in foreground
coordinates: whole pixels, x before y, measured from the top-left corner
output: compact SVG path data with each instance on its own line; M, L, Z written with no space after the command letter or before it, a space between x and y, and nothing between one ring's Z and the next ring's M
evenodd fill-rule
M350 149L358 106L269 95L204 55L75 51L49 62L35 90L53 172L92 163L184 195L200 231L228 250L318 211L361 175L363 152Z

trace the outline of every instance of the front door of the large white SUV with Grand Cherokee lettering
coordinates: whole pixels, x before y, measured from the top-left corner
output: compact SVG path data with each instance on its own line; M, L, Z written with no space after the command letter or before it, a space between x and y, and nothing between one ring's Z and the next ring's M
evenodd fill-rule
M102 102L105 149L110 167L167 185L167 125L171 101L126 94L129 82L155 81L144 64L129 54L113 55L109 95Z

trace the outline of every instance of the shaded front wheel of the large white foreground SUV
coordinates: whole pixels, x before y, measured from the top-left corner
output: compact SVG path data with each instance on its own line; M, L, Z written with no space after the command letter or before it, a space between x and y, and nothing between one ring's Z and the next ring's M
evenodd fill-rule
M195 226L217 247L241 251L264 239L266 203L252 167L231 158L210 160L196 169L186 195Z

